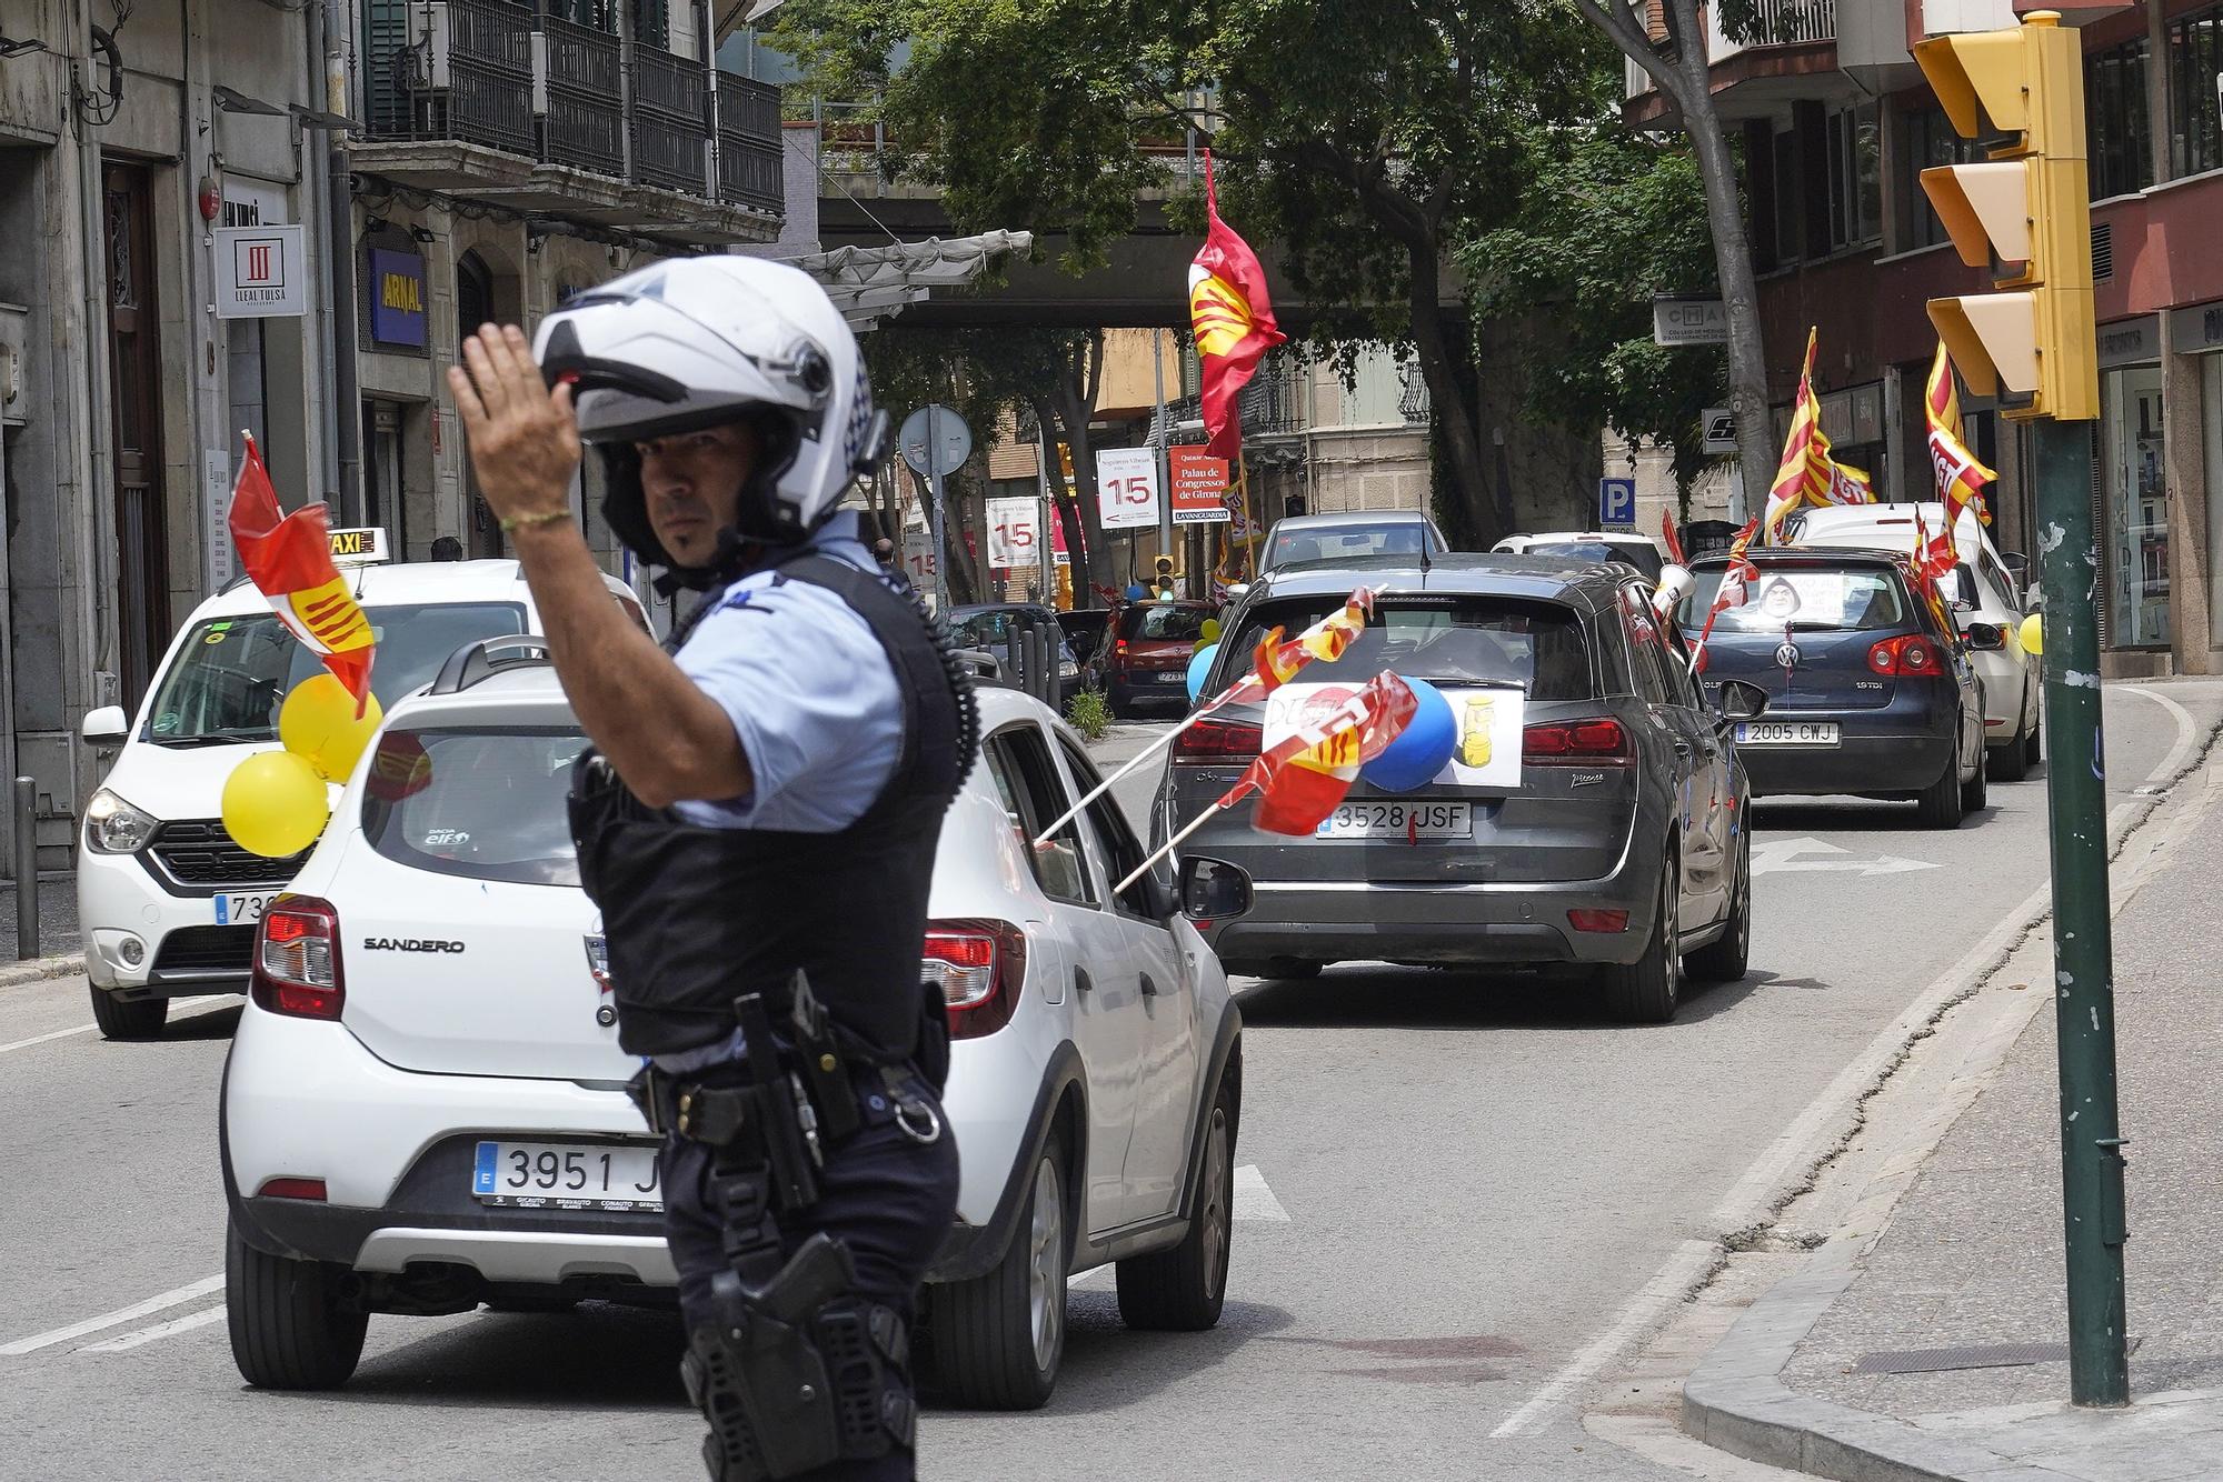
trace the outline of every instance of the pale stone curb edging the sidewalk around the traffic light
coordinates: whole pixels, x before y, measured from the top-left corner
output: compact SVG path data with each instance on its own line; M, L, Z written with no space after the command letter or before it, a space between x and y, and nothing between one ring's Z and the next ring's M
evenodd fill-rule
M2123 855L2130 838L2154 818L2179 782L2194 771L2207 771L2205 798L2187 798L2187 807L2163 827L2145 858L2116 882L2110 913L2121 913L2130 898L2145 889L2176 835L2190 831L2223 798L2223 762L2210 764L2219 735L2223 729L2210 731L2194 758L2163 784L2163 795L2141 798L2145 807L2136 809L2123 804L2125 815L2114 833L2110 862ZM2050 904L2027 918L2016 931L2018 947L2043 947L2036 938L2050 918ZM1970 975L1965 989L1952 995L1954 1002L1978 991L2010 955L1987 960ZM1685 1433L1732 1455L1841 1482L2076 1482L2070 1473L2014 1462L1974 1442L1798 1393L1778 1378L1807 1331L1852 1286L1861 1258L1883 1238L1914 1173L1990 1082L1992 1071L2005 1062L2021 1029L2027 1029L2047 1002L2034 998L2030 1013L2012 1027L2012 1033L1996 1033L1970 1053L1956 1073L1965 1093L1954 1098L1950 1113L1927 1118L1870 1182L1854 1215L1796 1275L1761 1293L1698 1362L1683 1384Z

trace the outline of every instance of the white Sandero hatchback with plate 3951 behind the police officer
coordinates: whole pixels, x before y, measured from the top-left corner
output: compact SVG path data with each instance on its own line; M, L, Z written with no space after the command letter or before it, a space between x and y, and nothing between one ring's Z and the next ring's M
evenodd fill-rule
M585 747L538 640L458 653L393 707L256 938L225 1067L240 1373L342 1384L371 1313L669 1302L656 1144L625 1098L565 795ZM927 1289L958 1402L1040 1404L1069 1273L1118 1262L1134 1326L1205 1329L1227 1280L1240 1013L1189 913L1240 871L1112 884L1143 849L1036 700L980 691L983 760L934 869L923 989L951 1018L958 1222Z

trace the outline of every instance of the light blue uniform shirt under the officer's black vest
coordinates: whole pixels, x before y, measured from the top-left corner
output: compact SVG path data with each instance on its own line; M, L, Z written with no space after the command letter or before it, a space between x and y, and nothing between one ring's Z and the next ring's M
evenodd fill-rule
M887 580L856 513L836 513L805 547ZM718 607L687 635L678 667L734 722L756 787L674 813L705 829L847 829L903 760L903 693L887 649L836 593L774 571L705 600Z

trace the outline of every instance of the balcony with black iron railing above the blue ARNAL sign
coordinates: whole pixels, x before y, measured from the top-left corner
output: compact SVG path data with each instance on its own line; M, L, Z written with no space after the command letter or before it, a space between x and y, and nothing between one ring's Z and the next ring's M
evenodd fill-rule
M682 240L769 240L780 96L518 0L367 0L360 173Z

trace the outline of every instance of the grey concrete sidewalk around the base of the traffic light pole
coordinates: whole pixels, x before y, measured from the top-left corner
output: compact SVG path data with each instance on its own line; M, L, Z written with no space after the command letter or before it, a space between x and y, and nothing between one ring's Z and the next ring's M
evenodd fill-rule
M2174 791L2152 853L2116 864L2132 1406L2067 1404L2038 931L1992 980L2030 1013L1967 1053L1843 1226L1692 1373L1692 1435L1858 1482L2223 1478L2223 751Z

